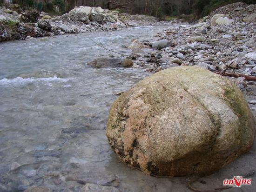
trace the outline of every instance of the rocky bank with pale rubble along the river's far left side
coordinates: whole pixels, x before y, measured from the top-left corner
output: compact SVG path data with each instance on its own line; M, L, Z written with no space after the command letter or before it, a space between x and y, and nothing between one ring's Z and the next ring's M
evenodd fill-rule
M0 41L117 30L128 26L155 25L157 21L156 17L129 15L101 7L75 7L69 13L52 18L34 9L23 11L13 4L0 7Z

